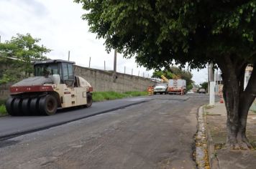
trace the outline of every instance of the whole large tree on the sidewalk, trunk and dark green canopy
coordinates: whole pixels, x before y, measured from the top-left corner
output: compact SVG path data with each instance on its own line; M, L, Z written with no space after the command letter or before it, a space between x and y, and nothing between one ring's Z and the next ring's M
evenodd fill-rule
M251 148L247 114L256 96L256 69L244 90L244 70L256 65L256 1L108 1L83 4L90 31L104 38L106 50L152 68L173 64L193 68L216 64L224 81L229 148Z

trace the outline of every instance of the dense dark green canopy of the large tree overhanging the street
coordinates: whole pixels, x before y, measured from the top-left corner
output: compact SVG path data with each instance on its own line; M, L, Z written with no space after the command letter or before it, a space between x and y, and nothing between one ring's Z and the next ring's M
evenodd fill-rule
M75 1L106 49L149 69L173 59L204 67L229 54L255 62L255 1Z

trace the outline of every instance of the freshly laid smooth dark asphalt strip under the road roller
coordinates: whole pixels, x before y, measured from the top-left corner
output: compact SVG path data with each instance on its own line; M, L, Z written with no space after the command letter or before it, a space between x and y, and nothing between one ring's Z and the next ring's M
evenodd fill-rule
M88 108L75 107L58 110L56 115L52 116L0 117L0 140L62 125L84 117L99 115L101 113L120 109L129 105L147 102L151 99L151 97L134 97L122 100L95 102Z

